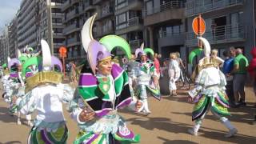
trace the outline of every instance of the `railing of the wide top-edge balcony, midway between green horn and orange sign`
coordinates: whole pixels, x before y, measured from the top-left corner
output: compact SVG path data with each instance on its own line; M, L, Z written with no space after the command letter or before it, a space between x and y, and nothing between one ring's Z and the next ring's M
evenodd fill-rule
M166 2L165 4L162 4L159 7L146 10L145 15L155 14L155 13L159 13L159 12L170 10L170 9L180 9L182 7L185 7L185 3L182 1Z

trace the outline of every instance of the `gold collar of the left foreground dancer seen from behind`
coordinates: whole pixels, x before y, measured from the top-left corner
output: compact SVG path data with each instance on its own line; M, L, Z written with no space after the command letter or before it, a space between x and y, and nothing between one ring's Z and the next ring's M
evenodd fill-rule
M26 78L25 92L34 89L37 86L52 83L58 84L62 82L62 74L55 71L42 71L34 74L32 77Z

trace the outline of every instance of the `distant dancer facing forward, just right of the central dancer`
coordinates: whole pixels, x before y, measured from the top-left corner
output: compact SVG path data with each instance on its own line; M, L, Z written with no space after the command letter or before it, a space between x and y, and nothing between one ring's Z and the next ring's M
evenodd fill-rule
M134 78L134 94L142 100L144 108L142 112L144 114L150 114L151 111L147 102L147 90L160 100L160 90L158 90L157 73L154 68L154 62L147 58L147 54L150 53L154 56L154 51L150 48L144 50L144 44L135 51L136 58L140 58L140 62L136 62L133 69Z

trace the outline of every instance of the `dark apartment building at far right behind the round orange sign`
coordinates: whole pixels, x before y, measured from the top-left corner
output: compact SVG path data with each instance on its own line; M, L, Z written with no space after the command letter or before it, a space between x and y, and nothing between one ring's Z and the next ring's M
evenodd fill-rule
M187 0L186 46L192 50L198 45L191 23L193 18L202 14L206 22L207 38L212 48L222 52L234 46L244 50L250 58L250 50L255 45L254 1L246 0Z

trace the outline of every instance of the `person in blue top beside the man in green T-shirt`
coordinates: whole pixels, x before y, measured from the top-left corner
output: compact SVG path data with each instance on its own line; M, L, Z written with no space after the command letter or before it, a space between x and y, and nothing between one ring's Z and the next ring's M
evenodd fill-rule
M225 57L223 74L225 74L226 77L226 94L229 98L230 106L234 106L233 76L227 75L231 72L231 70L233 70L234 58L231 56L230 50L225 50L223 52L223 56Z

